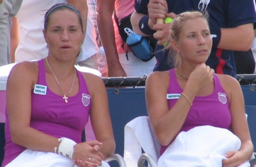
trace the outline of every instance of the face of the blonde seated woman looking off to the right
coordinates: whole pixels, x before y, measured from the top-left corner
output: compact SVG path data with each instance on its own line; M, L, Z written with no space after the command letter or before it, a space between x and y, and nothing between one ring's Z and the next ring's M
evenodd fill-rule
M212 40L205 19L187 20L178 41L173 41L176 51L180 51L182 66L193 69L208 59Z

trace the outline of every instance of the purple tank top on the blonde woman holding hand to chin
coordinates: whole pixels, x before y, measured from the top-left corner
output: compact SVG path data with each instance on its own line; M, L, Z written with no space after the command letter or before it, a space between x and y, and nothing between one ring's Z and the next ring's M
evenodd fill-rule
M178 97L183 92L174 69L169 70L170 80L168 87L168 105L172 108ZM229 110L229 100L226 92L221 86L219 78L214 74L214 92L208 96L196 96L193 106L190 107L187 118L180 130L188 131L196 126L210 125L228 129L231 124L231 114ZM162 146L162 154L168 146Z

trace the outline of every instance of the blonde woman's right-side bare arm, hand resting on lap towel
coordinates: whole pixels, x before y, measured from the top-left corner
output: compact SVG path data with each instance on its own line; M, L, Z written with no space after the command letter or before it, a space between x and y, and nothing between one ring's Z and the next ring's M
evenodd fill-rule
M241 86L236 79L225 75L222 75L220 79L230 102L231 130L241 140L240 150L226 153L227 158L229 159L223 160L223 164L238 166L248 160L252 156L253 152L253 145L245 116L244 97Z

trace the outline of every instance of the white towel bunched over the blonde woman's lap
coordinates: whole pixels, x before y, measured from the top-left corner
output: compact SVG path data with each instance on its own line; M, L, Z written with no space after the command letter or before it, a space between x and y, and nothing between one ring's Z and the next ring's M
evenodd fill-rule
M180 132L158 160L158 166L222 166L228 151L239 150L240 139L231 131L213 126L198 126ZM249 161L240 167L250 166Z

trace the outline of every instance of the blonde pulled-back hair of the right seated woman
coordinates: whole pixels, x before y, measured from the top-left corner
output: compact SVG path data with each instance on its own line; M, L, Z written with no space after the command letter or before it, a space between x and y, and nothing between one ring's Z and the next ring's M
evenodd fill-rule
M207 11L199 12L199 11L190 11L183 12L174 19L174 21L170 25L170 30L172 30L172 38L175 41L179 40L180 33L182 32L182 27L184 26L185 21L190 19L203 18L207 22L208 26L208 13ZM175 50L170 49L171 60L174 62L174 67L178 67L180 65L180 56L177 55Z

